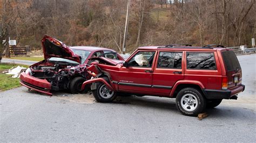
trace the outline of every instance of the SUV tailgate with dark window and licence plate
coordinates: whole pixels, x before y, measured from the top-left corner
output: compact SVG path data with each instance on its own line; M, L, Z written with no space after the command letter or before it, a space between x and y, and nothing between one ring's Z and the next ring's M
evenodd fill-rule
M227 76L227 89L237 87L242 82L242 70L234 51L221 52Z

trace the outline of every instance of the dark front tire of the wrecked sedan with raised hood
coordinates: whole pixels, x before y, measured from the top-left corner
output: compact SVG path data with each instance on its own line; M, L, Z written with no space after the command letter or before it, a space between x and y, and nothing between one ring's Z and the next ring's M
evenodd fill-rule
M83 77L75 77L69 84L69 91L71 94L82 93L84 90L81 90L82 84L86 81Z

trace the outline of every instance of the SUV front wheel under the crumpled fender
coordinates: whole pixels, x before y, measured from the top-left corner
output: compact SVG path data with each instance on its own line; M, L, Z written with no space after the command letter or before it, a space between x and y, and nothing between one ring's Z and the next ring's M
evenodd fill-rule
M109 78L103 77L107 82ZM102 82L97 82L97 89L92 91L93 96L98 102L109 103L116 99L117 94L114 91L109 90Z

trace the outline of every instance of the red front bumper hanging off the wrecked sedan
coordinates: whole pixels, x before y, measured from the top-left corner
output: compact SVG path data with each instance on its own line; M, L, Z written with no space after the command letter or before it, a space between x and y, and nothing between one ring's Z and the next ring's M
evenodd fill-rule
M52 95L51 90L51 83L49 83L47 80L42 80L33 76L30 76L23 72L21 76L19 77L21 83L24 87L36 90L38 92L42 92L43 94Z

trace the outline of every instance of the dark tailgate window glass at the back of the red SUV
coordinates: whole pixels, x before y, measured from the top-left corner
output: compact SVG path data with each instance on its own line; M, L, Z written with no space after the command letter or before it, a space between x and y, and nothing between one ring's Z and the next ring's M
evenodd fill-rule
M225 63L226 71L241 69L234 51L224 51L221 53Z

